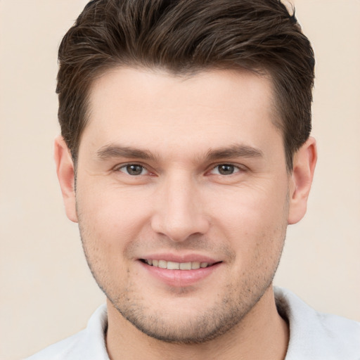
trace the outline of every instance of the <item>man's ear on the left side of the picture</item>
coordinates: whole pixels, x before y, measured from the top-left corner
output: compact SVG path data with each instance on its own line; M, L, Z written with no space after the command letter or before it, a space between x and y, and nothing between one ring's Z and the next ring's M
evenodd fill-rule
M77 222L74 162L63 136L55 139L54 159L66 215L71 221Z

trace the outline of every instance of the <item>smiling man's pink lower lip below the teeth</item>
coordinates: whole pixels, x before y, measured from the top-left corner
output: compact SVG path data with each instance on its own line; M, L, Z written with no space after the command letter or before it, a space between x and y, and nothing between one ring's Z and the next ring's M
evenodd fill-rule
M210 276L214 271L216 271L221 263L214 264L200 269L192 270L168 270L162 269L157 266L150 266L139 261L146 271L148 271L152 276L158 278L166 285L184 288L185 286L195 285L199 281Z

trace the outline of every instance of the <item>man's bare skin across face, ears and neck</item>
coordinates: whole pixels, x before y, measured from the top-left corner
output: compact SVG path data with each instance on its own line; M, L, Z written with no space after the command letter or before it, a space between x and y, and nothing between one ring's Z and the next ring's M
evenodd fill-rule
M76 192L56 140L65 209L108 297L111 359L285 358L272 279L306 211L316 146L287 172L273 101L271 81L249 72L118 68L91 89ZM173 257L216 266L189 284L141 261Z

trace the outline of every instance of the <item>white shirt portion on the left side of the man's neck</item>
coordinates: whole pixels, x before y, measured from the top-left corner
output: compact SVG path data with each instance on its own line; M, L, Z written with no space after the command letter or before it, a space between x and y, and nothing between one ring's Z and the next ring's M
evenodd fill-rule
M106 306L99 307L79 333L56 342L25 360L108 360L105 331L108 326Z

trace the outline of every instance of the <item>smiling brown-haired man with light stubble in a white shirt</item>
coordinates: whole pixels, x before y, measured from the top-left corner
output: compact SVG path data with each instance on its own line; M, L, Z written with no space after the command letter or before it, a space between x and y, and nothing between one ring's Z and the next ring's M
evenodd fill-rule
M30 359L359 359L272 286L306 212L314 54L277 0L95 0L59 50L55 158L106 306Z

